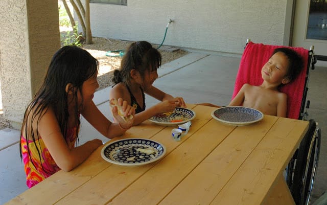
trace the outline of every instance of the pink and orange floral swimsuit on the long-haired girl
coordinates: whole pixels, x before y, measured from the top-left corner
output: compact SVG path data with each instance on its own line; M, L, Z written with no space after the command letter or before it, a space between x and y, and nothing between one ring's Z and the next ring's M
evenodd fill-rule
M74 148L77 139L77 127L67 130L66 143L68 147ZM25 164L26 185L31 188L40 183L43 179L51 176L60 170L53 160L48 148L44 145L42 138L35 141L29 140L29 147L24 136L20 137L20 146L22 153L22 160ZM37 149L41 152L41 161ZM30 152L30 154L28 154ZM33 163L34 165L33 165ZM43 167L43 168L42 168Z

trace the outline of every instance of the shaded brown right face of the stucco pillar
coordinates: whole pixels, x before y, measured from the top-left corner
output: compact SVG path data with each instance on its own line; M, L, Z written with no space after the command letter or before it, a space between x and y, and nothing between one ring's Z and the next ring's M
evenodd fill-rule
M58 0L28 0L28 34L33 96L53 54L60 49Z

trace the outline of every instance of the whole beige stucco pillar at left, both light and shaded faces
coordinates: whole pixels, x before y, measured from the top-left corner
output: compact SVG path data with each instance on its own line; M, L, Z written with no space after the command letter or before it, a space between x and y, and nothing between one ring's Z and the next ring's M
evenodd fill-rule
M0 82L6 119L20 128L25 108L60 48L57 0L2 0Z

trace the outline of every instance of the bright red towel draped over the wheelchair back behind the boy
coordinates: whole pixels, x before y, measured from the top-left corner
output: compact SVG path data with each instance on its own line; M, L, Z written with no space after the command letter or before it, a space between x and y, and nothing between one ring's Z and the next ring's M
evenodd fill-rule
M281 45L265 45L262 43L249 42L244 50L241 58L240 67L236 76L234 98L244 83L251 85L261 85L263 79L261 77L262 66L269 60L274 49L285 47ZM303 69L299 76L292 82L282 86L281 92L288 96L287 117L298 119L300 115L303 90L305 88L306 73L308 67L309 51L298 47L287 47L295 50L303 58Z

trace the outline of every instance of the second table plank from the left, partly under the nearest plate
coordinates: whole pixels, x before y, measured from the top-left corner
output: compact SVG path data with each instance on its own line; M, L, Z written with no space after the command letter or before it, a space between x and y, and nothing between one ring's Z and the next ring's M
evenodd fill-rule
M168 155L211 119L206 114L208 109L213 108L197 106L193 109L197 113L197 118L192 121L189 133L182 137L181 142L174 141L171 136L171 129L174 126L163 127L164 129L156 133L151 139L163 144L167 149L166 155ZM157 163L160 161L139 167L112 165L56 204L106 204ZM90 187L92 187L91 193Z

